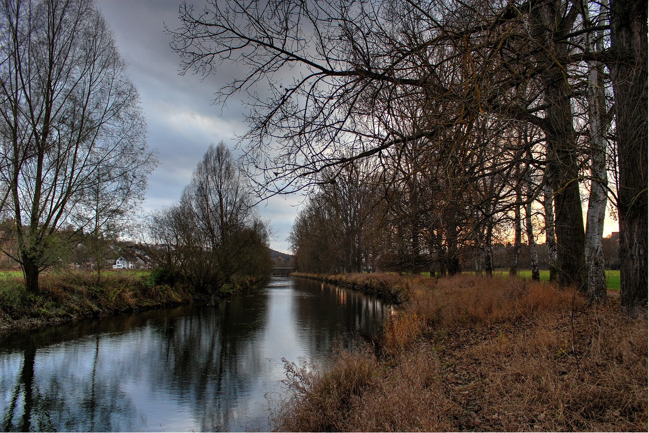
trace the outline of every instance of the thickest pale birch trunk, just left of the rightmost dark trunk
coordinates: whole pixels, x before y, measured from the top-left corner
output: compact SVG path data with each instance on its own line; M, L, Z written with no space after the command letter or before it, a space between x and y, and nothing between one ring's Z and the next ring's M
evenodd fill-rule
M606 2L606 0L605 0ZM587 3L587 2L585 2ZM589 9L584 10L584 22L590 25ZM607 7L602 3L600 8ZM604 14L600 13L596 25L604 24ZM591 53L604 51L604 33L594 31L587 34L587 49ZM609 122L606 120L606 96L604 95L604 71L598 62L588 63L588 117L590 129L591 192L588 199L586 217L585 257L587 272L587 293L591 303L606 299L606 272L604 272L604 216L606 214L607 174L606 174L606 135Z

